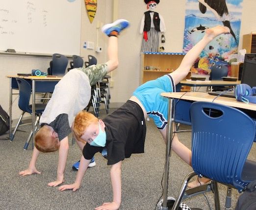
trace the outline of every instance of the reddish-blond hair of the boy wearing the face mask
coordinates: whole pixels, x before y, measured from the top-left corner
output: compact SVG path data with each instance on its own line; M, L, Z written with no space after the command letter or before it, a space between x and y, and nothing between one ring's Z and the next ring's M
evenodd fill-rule
M90 124L98 123L98 121L99 121L99 119L89 112L86 112L86 111L78 112L78 114L75 118L75 121L74 121L75 135L78 138L80 138Z

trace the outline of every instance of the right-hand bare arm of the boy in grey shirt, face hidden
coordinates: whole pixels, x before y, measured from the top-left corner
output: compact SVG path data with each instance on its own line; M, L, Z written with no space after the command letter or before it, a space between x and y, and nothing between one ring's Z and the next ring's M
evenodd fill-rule
M67 162L69 151L69 139L65 137L60 141L59 145L59 162L57 168L57 180L48 184L48 186L56 187L64 181L64 170Z

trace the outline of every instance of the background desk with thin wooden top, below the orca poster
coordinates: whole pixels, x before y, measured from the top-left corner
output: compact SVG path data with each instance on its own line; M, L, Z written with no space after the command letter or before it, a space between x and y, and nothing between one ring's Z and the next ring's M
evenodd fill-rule
M214 86L236 86L240 84L241 81L223 81L223 80L206 80L206 81L201 81L201 80L181 80L180 84L185 85L185 86L190 86L193 87L193 91L196 91L196 87L202 87L202 86L210 86L211 91L212 87Z

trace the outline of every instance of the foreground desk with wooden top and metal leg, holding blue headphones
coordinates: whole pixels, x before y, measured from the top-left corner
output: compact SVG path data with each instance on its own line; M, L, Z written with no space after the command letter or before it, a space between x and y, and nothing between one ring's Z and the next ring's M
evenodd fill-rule
M187 92L187 93L161 93L162 96L169 99L169 110L168 110L168 124L167 124L167 137L166 137L166 166L164 173L164 184L163 184L163 208L162 210L168 210L167 208L167 190L168 190L168 178L169 178L169 160L171 156L171 137L175 133L173 130L174 126L174 99L183 99L188 101L208 101L211 102L216 96L209 95L208 93L202 92ZM214 100L215 103L224 104L227 106L241 108L246 110L256 111L256 104L236 101L235 98L219 96Z

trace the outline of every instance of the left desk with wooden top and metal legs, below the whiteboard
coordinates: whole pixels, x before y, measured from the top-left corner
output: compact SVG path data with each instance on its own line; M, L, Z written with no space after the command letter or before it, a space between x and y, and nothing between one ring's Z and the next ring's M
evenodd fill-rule
M23 78L31 82L31 92L32 92L32 138L34 140L34 131L35 131L35 93L52 93L55 85L61 80L62 77L46 77L46 76L11 76L10 78L10 94L9 94L9 110L10 110L10 129L9 129L9 138L12 135L12 95L13 89L18 90L18 84L16 78Z

